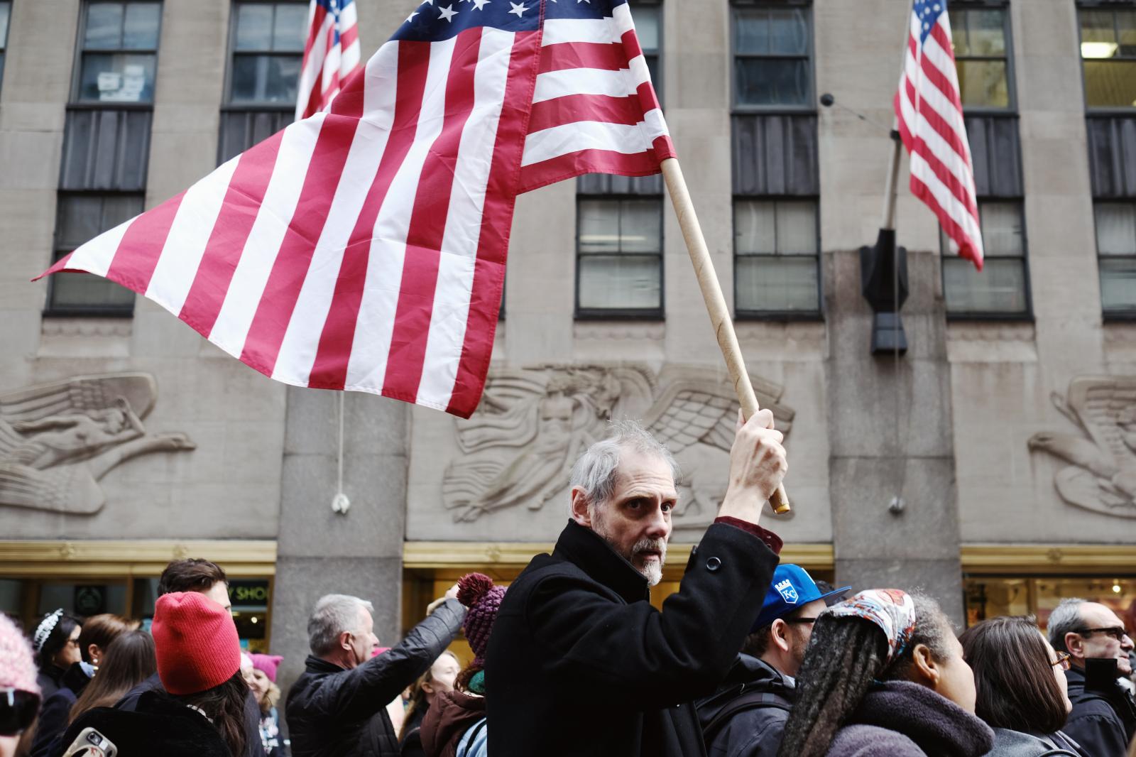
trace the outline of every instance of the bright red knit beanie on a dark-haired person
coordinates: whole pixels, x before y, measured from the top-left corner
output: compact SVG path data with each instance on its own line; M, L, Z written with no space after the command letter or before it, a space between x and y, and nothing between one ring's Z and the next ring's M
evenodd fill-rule
M195 591L162 594L153 610L158 677L172 694L220 685L241 669L241 640L229 612Z

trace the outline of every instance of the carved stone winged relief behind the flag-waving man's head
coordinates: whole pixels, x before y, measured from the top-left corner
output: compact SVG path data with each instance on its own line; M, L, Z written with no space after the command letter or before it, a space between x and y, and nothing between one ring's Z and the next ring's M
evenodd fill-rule
M787 433L793 410L776 384L753 380L761 407ZM641 365L546 365L490 375L477 413L456 419L461 455L445 471L442 494L454 522L504 508L538 510L565 492L580 452L610 419L641 421L683 469L676 527L705 524L726 490L737 399L707 368Z

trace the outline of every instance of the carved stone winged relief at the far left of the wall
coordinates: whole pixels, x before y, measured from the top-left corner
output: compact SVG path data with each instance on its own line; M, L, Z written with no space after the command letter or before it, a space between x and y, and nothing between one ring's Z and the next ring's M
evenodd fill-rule
M90 515L99 481L124 460L194 449L183 433L150 433L153 376L76 376L0 393L0 505ZM66 558L66 555L64 556Z

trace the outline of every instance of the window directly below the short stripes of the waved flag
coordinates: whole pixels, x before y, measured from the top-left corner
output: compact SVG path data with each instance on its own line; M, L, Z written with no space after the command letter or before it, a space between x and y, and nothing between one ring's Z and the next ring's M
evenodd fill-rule
M662 198L580 197L576 316L662 317Z

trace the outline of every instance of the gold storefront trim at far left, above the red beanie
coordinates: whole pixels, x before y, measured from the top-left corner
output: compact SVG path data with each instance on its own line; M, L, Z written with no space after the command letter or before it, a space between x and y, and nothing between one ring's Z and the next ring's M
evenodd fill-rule
M231 576L276 574L276 542L267 540L0 541L6 577L156 576L166 564L203 557Z

